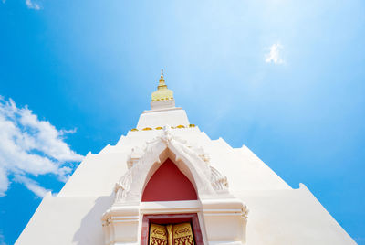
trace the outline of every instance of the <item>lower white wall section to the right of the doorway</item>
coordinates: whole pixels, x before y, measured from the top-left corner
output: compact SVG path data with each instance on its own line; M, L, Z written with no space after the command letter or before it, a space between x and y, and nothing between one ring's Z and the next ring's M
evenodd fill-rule
M249 245L356 244L303 184L299 189L235 195L249 208Z

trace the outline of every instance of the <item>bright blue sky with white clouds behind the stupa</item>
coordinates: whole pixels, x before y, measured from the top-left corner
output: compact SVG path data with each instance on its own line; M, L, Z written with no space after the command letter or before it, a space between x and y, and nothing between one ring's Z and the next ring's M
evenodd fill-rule
M162 68L192 123L365 244L363 1L0 0L0 23L0 137L18 151L0 145L0 244L135 127Z

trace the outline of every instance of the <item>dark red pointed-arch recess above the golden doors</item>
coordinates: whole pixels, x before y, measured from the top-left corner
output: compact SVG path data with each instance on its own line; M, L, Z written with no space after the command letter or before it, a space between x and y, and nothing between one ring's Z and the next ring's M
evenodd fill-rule
M169 158L151 176L142 195L142 202L196 199L192 183Z

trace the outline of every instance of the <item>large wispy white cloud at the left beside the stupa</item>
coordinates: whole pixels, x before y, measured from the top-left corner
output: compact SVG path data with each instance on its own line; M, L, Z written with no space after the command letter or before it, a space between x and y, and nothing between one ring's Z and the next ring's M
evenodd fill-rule
M69 164L81 161L83 156L64 142L65 133L70 131L58 131L27 107L17 108L11 99L0 97L0 197L11 184L9 176L15 176L15 181L39 197L47 190L26 176L54 174L66 181L72 170Z

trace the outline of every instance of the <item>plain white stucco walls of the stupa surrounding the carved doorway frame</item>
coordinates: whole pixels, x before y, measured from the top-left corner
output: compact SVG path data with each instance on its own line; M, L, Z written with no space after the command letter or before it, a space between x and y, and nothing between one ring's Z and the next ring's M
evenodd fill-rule
M179 108L144 112L137 125L139 131L121 136L118 144L107 145L99 154L88 154L57 196L44 197L16 244L106 244L100 218L114 201L114 186L127 173L128 162L146 154L146 145L162 135L162 130L154 128L166 124L188 126L186 112ZM153 130L141 131L146 127ZM231 195L249 209L245 240L232 244L356 244L307 187L292 189L246 146L235 149L221 138L211 140L198 127L175 128L171 135L186 142L182 145L188 145L186 149L194 149L196 155L201 156L199 153L202 152L202 159L227 177ZM197 206L198 212L199 207L210 205L206 200L202 202L201 206ZM134 205L141 210L146 207L143 203ZM182 205L176 205L173 210L181 210ZM156 204L156 207L161 209L168 205ZM203 217L208 218L202 213L200 218ZM227 220L231 219L227 215L224 220L222 236L229 231ZM209 235L210 230L206 229L214 227L212 222L203 223L205 242L227 244L224 240L208 242L209 236L213 235L218 235L216 240L219 240L219 233Z

